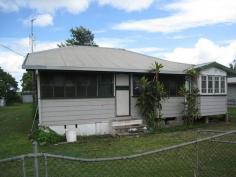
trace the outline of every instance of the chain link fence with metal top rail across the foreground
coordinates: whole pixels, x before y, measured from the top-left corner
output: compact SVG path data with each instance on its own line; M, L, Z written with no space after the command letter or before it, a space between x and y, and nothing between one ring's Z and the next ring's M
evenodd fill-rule
M111 158L34 153L0 160L0 177L236 177L236 130L198 131L195 141Z

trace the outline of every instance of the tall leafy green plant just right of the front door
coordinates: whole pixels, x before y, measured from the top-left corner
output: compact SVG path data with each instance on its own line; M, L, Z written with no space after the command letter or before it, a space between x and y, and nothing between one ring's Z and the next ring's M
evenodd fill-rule
M162 101L167 98L163 83L159 81L160 69L163 66L155 62L152 65L152 79L145 76L139 80L141 94L137 99L137 106L144 116L149 128L156 129L162 121Z

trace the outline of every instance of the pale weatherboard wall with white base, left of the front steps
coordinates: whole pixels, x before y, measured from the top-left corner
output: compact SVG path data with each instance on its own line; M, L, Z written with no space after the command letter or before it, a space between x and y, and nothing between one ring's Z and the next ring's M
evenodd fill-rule
M108 134L114 117L114 98L41 100L41 124L60 134L64 125L78 135Z

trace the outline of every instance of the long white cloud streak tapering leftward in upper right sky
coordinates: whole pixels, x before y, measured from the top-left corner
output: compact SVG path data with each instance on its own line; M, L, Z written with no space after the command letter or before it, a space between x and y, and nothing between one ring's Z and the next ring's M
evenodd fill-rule
M236 22L235 0L177 0L165 4L166 17L126 21L116 24L119 30L178 32L189 28Z

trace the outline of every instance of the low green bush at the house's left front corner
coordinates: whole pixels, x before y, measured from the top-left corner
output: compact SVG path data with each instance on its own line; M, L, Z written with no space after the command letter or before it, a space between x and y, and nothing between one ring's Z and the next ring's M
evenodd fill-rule
M48 127L39 127L35 132L35 140L40 145L48 145L64 141L65 136L58 135Z

